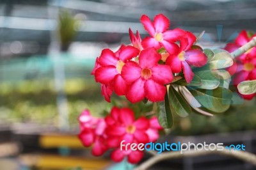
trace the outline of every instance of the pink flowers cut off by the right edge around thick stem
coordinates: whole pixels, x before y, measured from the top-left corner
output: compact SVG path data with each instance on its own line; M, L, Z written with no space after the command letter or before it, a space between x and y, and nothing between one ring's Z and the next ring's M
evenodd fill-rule
M233 52L244 44L250 42L256 34L247 33L245 30L241 31L237 36L234 43L228 43L225 50ZM256 79L256 47L248 50L241 56L234 59L234 64L228 68L230 75L233 75L233 84L237 86L243 81L252 81ZM241 95L244 99L251 100L255 97L255 93L252 95Z

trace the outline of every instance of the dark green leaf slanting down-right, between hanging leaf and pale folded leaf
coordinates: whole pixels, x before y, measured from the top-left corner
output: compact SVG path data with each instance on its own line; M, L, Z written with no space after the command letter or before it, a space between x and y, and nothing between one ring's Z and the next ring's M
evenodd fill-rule
M173 110L181 117L186 117L191 113L191 107L184 98L170 86L169 100Z

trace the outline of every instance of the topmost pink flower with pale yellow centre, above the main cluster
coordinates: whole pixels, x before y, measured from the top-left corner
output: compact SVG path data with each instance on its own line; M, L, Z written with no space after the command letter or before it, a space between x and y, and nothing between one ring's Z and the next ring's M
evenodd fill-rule
M141 42L144 49L164 47L170 54L179 52L179 46L175 42L184 36L182 29L168 30L170 21L163 14L156 15L154 22L151 22L147 15L142 15L140 20L151 36Z

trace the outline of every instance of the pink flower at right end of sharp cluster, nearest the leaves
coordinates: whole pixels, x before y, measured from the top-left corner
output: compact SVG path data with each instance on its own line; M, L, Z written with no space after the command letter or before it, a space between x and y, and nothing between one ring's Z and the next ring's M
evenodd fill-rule
M195 35L187 31L186 36L180 38L179 54L170 54L166 59L166 65L171 66L172 72L179 73L183 70L188 83L190 83L194 77L194 73L189 65L200 67L207 63L207 56L202 50L191 49L195 41Z

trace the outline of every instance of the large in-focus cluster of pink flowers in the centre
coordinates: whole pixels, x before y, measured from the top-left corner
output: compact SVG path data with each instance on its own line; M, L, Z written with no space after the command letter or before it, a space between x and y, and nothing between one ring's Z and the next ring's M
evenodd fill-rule
M104 49L96 59L92 74L108 102L113 91L132 103L144 98L163 101L165 85L172 82L173 73L184 75L189 83L194 76L191 66L207 63L202 49L193 47L195 35L169 29L170 21L163 14L156 15L153 22L142 15L141 23L150 36L141 40L138 31L134 35L129 29L132 45L121 45L116 52Z

